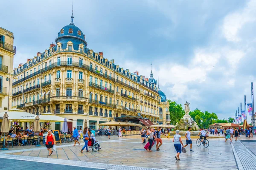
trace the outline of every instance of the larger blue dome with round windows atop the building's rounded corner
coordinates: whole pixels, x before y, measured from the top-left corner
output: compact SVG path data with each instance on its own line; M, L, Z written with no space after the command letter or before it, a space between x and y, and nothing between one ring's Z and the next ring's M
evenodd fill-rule
M84 33L80 28L75 26L73 20L70 25L61 28L61 31L58 32L58 37L55 40L56 43L61 42L61 48L67 48L67 42L69 41L73 42L74 50L78 50L79 44L84 44L85 47L87 46Z

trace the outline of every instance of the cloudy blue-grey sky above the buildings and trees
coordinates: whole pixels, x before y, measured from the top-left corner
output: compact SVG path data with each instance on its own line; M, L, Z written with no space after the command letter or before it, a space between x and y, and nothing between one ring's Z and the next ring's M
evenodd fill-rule
M14 66L55 42L70 23L71 0L1 3L1 27L15 36ZM168 99L234 117L256 83L255 0L74 0L88 48L154 77ZM239 111L240 112L240 111Z

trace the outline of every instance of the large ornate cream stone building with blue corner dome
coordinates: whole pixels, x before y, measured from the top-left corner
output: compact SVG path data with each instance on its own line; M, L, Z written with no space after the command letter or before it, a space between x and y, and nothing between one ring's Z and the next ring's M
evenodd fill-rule
M58 32L56 44L15 68L13 108L55 113L73 120L69 127L78 128L85 120L98 128L122 116L157 123L160 96L153 74L148 81L138 71L131 73L104 58L103 52L87 48L85 35L71 18Z

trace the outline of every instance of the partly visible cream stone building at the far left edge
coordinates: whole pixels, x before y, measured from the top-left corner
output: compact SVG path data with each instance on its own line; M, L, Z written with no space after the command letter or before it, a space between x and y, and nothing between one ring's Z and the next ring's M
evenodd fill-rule
M0 112L7 111L12 104L12 71L16 47L13 33L0 27Z

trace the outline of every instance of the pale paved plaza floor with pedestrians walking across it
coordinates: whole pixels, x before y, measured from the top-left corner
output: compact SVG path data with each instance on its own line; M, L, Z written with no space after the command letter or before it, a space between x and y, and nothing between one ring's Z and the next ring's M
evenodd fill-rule
M152 148L153 152L145 151L140 136L127 136L126 138L118 138L111 136L96 136L100 142L102 149L98 152L81 153L83 143L80 146L73 147L73 143L58 144L57 150L48 156L47 149L35 146L14 146L6 151L0 151L1 159L9 159L12 162L20 160L26 166L30 164L38 164L38 169L45 169L51 166L61 166L62 169L69 169L72 166L78 166L76 169L109 169L109 170L151 170L151 169L169 169L169 170L192 170L192 169L210 169L210 170L253 170L256 164L255 144L253 139L249 142L245 137L239 138L243 142L224 142L224 138L209 139L209 147L203 145L198 147L193 141L194 152L181 153L180 161L176 161L174 156L176 150L173 146L172 139L163 139L163 145L160 151L156 151L156 145ZM183 139L185 143L185 139ZM244 157L249 155L251 164L244 162ZM244 157L243 157L244 156ZM1 161L1 160L0 160ZM34 161L31 163L31 161ZM35 163L36 162L36 163ZM23 164L23 163L20 163ZM41 166L42 165L42 166ZM124 167L125 165L126 167ZM63 167L65 166L65 167ZM86 168L85 168L86 167ZM2 166L0 169L8 169ZM48 168L49 169L49 168Z

